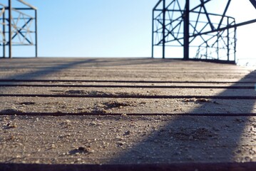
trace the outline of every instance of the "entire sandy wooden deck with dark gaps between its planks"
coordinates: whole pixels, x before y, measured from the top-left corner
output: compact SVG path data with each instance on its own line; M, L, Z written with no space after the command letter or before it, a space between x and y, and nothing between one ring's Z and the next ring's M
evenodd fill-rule
M256 73L150 58L0 60L0 170L255 170Z

